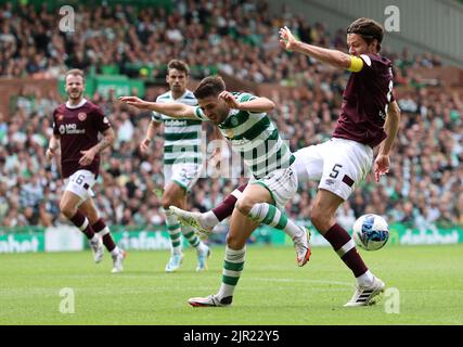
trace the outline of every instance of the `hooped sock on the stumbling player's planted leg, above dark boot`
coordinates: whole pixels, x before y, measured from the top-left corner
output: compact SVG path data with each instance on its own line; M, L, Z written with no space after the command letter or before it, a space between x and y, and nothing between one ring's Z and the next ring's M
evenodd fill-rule
M246 246L242 249L232 249L226 247L226 258L223 260L222 284L217 293L219 299L228 296L233 296L236 283L240 280L241 272L244 267L244 258L246 255Z

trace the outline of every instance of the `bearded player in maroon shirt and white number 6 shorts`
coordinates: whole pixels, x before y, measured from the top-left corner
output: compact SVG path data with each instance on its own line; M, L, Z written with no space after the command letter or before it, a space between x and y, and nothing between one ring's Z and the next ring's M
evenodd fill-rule
M100 152L112 145L115 136L102 110L83 99L85 77L79 69L65 75L68 100L53 112L53 136L47 157L61 147L61 169L66 188L60 202L61 213L89 239L95 262L103 258L104 247L113 258L112 272L123 270L125 252L111 236L93 204L92 187L100 168ZM99 141L99 132L103 139Z

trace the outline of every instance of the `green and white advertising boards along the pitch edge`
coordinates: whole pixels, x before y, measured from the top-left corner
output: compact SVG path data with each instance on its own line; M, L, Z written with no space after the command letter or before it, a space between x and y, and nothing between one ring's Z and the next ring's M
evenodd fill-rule
M125 227L113 226L111 231L115 242L124 249L155 250L169 249L169 233L163 226L157 227ZM210 240L224 241L215 234ZM311 244L313 246L330 246L323 236L313 230ZM437 245L463 243L463 227L453 228L433 227L427 230L407 228L403 224L393 223L389 226L390 245ZM292 246L293 241L282 231L260 227L252 235L249 244ZM183 237L183 246L189 247ZM88 248L88 242L83 234L72 226L60 226L53 228L41 227L0 227L0 254L25 253L25 252L72 252Z

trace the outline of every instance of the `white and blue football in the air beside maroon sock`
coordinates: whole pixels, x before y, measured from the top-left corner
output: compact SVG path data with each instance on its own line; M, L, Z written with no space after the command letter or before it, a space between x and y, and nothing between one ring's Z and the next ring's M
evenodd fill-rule
M389 226L381 216L363 215L353 223L352 237L360 248L377 250L389 239Z

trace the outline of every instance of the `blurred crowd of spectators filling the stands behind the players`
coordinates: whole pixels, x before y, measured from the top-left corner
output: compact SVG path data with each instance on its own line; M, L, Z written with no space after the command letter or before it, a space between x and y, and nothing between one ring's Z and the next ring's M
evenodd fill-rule
M263 2L236 3L178 1L178 10L169 15L156 8L138 12L130 5L78 7L74 34L54 30L56 18L46 10L22 5L13 12L5 4L0 8L0 77L59 77L68 67L131 75L131 67L152 63L154 76L164 78L162 66L175 56L197 67L192 68L194 78L216 66L243 80L307 87L307 93L295 89L291 98L275 92L272 118L293 151L327 139L347 74L284 53L278 47L278 29L287 25L306 42L337 49L346 49L345 31L330 35L323 23L308 24L284 9L275 17ZM396 85L409 87L398 95L402 118L391 170L380 183L370 175L339 209L339 222L350 229L360 215L375 213L416 228L463 224L463 101L456 93L421 85L411 73L416 66L440 65L437 56L385 54L395 61ZM144 98L154 100L160 91L165 88L149 89ZM110 116L117 133L113 150L102 155L94 187L102 215L112 224L163 224L163 134L143 155L138 146L150 115L120 105L111 93L90 99ZM7 120L0 113L1 226L64 222L57 208L60 168L44 157L51 114L60 102L24 89L14 114ZM210 140L210 126L205 131ZM201 179L192 190L191 208L214 207L243 180ZM301 187L287 206L293 218L307 221L316 189L312 182Z

